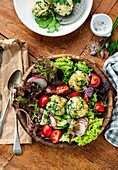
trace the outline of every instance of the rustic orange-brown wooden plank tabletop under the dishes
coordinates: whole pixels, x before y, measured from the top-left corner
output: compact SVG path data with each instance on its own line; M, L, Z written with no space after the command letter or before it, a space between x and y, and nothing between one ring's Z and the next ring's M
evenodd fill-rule
M30 65L35 57L71 53L85 56L96 62L102 69L105 59L91 57L90 46L100 38L90 30L90 20L94 13L106 13L112 20L118 14L117 0L94 0L92 11L86 22L73 33L51 38L38 35L26 28L17 17L13 1L1 0L0 39L20 38L27 41ZM118 29L112 40L118 37ZM0 169L118 169L117 148L109 144L102 133L96 141L76 149L57 150L33 141L22 146L22 155L13 155L12 145L0 145Z

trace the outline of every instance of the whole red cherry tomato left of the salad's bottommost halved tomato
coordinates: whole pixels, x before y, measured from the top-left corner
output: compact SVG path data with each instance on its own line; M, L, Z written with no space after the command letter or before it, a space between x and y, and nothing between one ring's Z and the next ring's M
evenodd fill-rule
M51 134L52 134L52 129L51 129L50 126L45 125L45 126L42 126L42 127L41 127L41 132L42 132L42 134L43 134L45 137L48 138L48 137L50 137Z

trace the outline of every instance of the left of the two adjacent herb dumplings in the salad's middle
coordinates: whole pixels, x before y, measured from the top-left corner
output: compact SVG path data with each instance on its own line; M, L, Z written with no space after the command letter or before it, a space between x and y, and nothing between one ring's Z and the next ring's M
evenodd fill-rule
M57 95L52 95L46 104L46 110L51 114L63 115L66 112L66 103L67 99Z

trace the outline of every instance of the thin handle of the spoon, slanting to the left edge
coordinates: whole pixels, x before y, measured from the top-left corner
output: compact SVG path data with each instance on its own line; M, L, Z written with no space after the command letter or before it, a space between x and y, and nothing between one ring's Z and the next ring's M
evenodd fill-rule
M0 120L0 138L2 137L4 119L5 119L7 107L8 107L9 101L10 101L10 96L11 96L11 94L9 95L9 99L8 99L8 101L7 101L7 105L6 105L6 107L5 107L4 113L3 113L2 118L1 118L1 120Z

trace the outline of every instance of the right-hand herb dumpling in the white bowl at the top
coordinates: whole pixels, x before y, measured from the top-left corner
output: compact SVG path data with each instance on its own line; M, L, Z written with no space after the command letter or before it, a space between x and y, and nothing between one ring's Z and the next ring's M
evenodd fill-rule
M72 12L73 9L73 1L66 0L63 4L60 3L52 3L54 11L57 12L61 16L67 16Z

